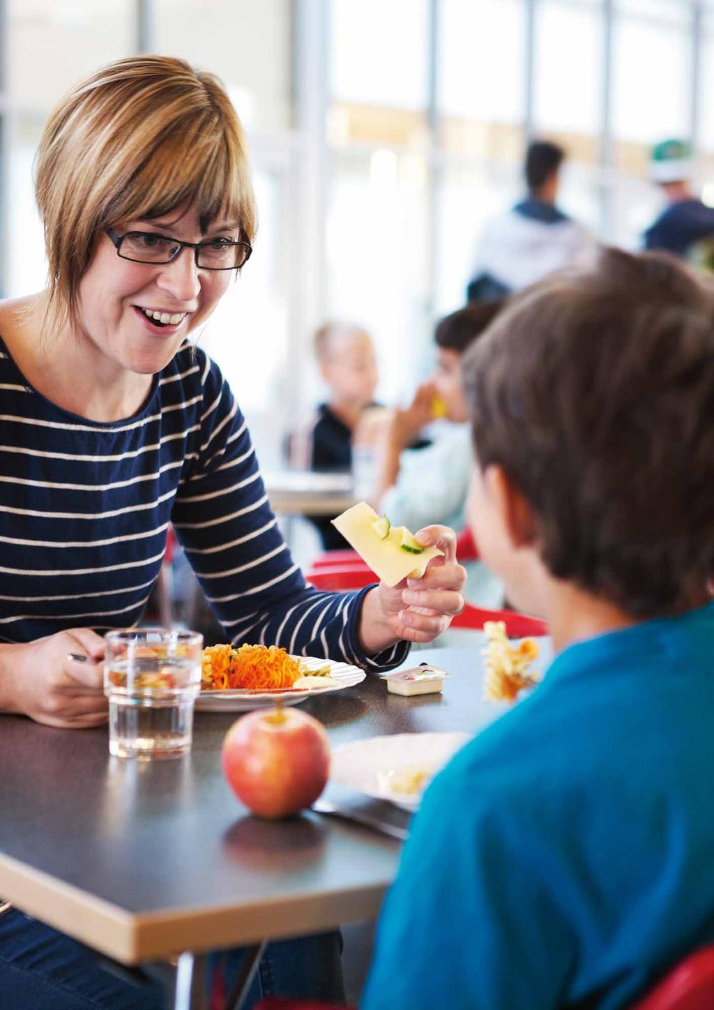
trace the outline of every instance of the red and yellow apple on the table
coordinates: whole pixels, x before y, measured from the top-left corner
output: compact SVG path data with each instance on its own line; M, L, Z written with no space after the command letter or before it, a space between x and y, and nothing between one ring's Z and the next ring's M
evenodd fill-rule
M260 817L290 817L325 788L329 742L324 726L294 708L241 716L225 734L223 774L238 799Z

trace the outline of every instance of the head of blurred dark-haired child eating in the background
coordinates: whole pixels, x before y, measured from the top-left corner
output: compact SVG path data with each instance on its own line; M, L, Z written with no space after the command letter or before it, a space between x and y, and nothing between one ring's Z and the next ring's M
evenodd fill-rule
M443 402L446 418L454 423L469 420L464 396L462 356L495 319L504 302L473 302L451 312L437 324L434 386Z

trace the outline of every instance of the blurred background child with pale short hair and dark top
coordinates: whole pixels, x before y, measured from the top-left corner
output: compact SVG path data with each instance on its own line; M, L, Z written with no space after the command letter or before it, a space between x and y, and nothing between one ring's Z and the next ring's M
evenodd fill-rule
M290 465L296 470L349 474L352 432L368 407L376 407L379 382L375 345L354 323L326 322L315 333L314 351L326 389L320 403L290 438ZM333 516L309 517L325 550L348 544L331 523Z

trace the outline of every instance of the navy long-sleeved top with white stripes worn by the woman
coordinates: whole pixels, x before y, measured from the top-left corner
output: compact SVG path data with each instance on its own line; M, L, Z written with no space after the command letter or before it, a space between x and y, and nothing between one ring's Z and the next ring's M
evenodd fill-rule
M32 389L0 339L0 641L138 621L173 523L234 642L381 669L359 646L365 590L322 593L293 563L245 421L186 343L134 414L102 424Z

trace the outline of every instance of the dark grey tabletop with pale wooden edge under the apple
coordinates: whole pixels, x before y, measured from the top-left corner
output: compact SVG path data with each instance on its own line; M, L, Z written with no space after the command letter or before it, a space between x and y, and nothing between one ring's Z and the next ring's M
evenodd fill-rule
M413 652L407 666L425 660L451 675L443 695L399 697L369 676L302 707L333 746L474 732L500 713L482 700L477 646ZM283 822L248 815L220 769L235 718L196 713L189 756L136 763L109 756L106 729L0 716L0 896L126 964L376 915L399 842L313 812ZM406 823L391 804L339 792L326 795Z

